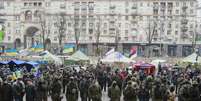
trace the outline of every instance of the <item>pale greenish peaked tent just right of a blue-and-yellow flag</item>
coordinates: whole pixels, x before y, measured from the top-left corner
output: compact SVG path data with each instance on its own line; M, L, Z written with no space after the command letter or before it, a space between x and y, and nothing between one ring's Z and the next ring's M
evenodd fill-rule
M75 52L73 55L71 55L69 57L69 60L74 60L74 61L88 61L89 57L87 55L85 55L83 52L81 51L77 51Z

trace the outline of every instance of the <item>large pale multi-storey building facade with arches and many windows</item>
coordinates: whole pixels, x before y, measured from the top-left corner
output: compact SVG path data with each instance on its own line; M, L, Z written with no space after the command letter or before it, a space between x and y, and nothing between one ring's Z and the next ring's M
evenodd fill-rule
M187 56L195 47L196 8L196 0L0 0L1 44L29 48L45 42L56 49L77 43L94 55L98 43L102 54L137 47L139 56Z

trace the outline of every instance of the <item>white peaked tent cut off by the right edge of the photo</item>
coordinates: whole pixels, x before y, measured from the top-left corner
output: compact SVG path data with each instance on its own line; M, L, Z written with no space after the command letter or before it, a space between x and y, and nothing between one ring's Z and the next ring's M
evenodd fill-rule
M196 61L197 59L197 61ZM182 59L182 62L191 62L191 63L200 63L201 62L201 57L198 56L196 53L192 53L191 55L185 57L184 59Z

